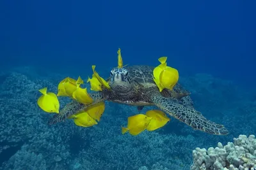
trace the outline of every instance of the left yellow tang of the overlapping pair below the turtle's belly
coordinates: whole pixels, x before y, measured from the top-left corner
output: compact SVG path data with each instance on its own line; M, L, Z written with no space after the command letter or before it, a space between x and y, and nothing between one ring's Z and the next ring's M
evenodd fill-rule
M151 119L151 117L147 117L143 114L138 114L129 117L127 127L122 127L122 134L124 134L127 131L129 131L129 133L134 136L140 134L147 128Z

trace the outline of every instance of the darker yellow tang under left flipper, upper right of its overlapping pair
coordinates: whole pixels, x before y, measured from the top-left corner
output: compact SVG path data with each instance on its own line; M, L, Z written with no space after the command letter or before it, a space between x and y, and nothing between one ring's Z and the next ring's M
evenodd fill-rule
M100 102L97 104L93 104L92 106L89 106L84 111L86 111L90 115L90 117L92 117L93 119L99 122L102 114L104 113L104 110L105 110L105 103Z

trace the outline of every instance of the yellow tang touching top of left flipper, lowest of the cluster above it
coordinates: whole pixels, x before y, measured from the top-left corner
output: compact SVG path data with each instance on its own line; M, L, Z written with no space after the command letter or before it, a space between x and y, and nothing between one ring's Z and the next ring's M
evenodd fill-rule
M83 104L92 104L93 99L88 94L87 89L82 89L81 87L77 87L77 89L73 92L72 97L78 101L79 103Z

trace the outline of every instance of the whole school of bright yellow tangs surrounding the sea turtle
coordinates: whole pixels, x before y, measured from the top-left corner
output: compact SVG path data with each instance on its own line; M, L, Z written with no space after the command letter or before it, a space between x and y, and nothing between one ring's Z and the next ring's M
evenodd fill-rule
M118 48L118 68L122 68L123 59L121 55L121 50ZM163 89L172 90L177 81L179 80L179 72L173 67L167 66L167 57L161 57L158 59L161 64L155 67L153 71L154 81L161 92ZM108 82L104 78L100 77L95 71L96 66L92 66L92 78L88 76L87 83L90 83L90 90L102 91L102 88L111 89ZM76 114L68 117L74 120L74 124L81 127L92 127L97 125L102 117L105 110L105 103L100 102L93 104L93 99L87 92L86 88L81 88L80 86L84 83L83 79L79 76L77 80L67 77L60 81L58 85L57 95L52 92L47 92L47 87L40 89L39 92L42 96L38 98L38 106L47 113L60 113L60 103L58 97L65 96L76 100L79 103L86 104L88 107L79 111ZM161 110L150 110L147 113L134 115L128 118L127 127L122 127L122 134L129 132L131 135L135 136L141 132L155 131L167 124L170 121L165 113Z

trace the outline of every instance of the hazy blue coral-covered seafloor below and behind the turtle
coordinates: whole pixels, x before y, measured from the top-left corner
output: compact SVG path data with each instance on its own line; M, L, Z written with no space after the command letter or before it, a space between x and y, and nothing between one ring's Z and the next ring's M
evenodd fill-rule
M256 134L256 90L209 74L181 77L180 83L192 93L196 110L224 124L228 136L194 131L174 118L157 131L122 135L121 125L138 110L114 103L106 103L93 127L77 127L72 120L49 126L52 114L37 106L38 89L56 92L67 76L78 75L43 73L33 67L0 73L0 169L189 169L196 147L209 148L218 141L225 145L239 134ZM61 107L68 101L60 97Z

